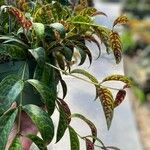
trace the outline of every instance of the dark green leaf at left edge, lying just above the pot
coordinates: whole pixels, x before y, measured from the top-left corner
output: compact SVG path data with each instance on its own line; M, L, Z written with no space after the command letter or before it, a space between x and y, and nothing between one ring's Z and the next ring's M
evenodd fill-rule
M12 59L25 59L27 53L25 50L13 44L0 44L0 53L9 54Z

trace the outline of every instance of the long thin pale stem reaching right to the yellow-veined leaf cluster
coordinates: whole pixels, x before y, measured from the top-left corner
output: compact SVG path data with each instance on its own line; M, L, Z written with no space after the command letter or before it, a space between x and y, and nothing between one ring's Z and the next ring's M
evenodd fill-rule
M60 69L60 68L58 68L58 67L56 67L56 66L54 66L54 65L52 65L52 64L49 64L49 63L46 63L46 64L47 64L48 66L51 66L51 67L55 68L56 70L59 70L60 72L64 73L65 75L69 75L69 76L72 76L72 77L74 77L74 78L80 79L80 80L82 80L82 81L85 81L85 82L94 84L95 86L103 87L103 88L109 88L109 89L117 90L117 91L120 90L120 89L118 89L118 88L113 88L113 87L109 87L109 86L103 86L103 85L101 85L101 84L99 84L99 83L95 83L95 82L86 80L86 79L84 79L84 78L81 78L81 77L79 77L79 76L70 74L70 73L66 72L65 70L62 70L62 69Z

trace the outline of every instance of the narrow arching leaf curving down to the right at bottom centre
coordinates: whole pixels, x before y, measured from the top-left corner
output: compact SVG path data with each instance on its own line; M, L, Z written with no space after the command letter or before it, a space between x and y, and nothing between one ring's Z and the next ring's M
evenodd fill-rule
M83 120L84 122L87 123L87 125L90 127L91 129L91 132L92 132L92 136L94 137L97 137L97 129L96 129L96 126L89 120L87 119L86 117L84 117L83 115L81 114L72 114L71 117L77 117L77 118L80 118L81 120ZM93 143L95 142L95 139L93 139Z

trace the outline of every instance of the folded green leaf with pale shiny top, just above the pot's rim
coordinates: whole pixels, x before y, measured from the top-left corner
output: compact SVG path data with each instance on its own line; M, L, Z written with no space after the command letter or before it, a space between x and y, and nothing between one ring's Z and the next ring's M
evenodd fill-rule
M40 66L44 65L45 62L45 50L43 47L38 47L35 49L29 49L29 52L32 54L32 56L35 58L37 63Z

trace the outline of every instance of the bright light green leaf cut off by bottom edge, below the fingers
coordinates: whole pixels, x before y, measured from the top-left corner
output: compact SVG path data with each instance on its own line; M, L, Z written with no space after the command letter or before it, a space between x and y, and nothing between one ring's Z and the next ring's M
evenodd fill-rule
M9 150L22 150L22 146L20 143L20 139L18 137L15 137L12 141Z

